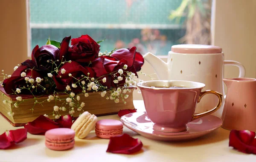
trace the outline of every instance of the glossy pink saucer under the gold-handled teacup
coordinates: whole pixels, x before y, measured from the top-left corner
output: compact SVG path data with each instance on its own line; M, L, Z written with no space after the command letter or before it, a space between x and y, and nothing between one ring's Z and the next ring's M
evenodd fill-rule
M148 118L146 112L130 113L121 117L121 122L129 129L140 135L158 141L181 141L204 136L222 125L217 116L207 115L187 124L183 132L167 133L153 130L154 123Z

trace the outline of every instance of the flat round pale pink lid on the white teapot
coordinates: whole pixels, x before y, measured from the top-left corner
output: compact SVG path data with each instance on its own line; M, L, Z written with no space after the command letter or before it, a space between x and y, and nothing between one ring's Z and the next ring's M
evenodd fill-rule
M221 53L222 48L211 45L200 44L179 44L172 46L172 52L175 53L191 53L191 54L208 54Z

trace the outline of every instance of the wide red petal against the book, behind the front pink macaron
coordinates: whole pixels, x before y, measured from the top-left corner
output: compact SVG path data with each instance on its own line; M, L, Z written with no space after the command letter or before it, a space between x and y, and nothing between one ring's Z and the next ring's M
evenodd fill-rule
M30 134L44 134L47 130L59 128L60 125L41 115L33 122L28 122L24 127Z

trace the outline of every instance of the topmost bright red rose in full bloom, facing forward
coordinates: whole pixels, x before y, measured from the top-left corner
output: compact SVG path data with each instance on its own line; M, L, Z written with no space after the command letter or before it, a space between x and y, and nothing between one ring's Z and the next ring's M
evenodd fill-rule
M100 45L90 38L89 35L81 35L79 38L71 39L68 54L64 56L67 61L72 60L80 64L89 64L98 58Z

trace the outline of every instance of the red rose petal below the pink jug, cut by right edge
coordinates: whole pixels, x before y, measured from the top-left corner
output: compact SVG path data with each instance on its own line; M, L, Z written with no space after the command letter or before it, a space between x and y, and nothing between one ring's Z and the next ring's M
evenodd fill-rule
M244 130L231 130L229 136L229 146L243 152L256 154L256 145L254 132ZM246 142L246 143L244 143Z

